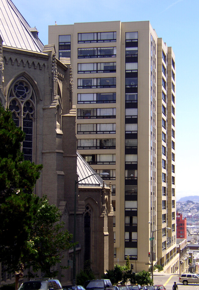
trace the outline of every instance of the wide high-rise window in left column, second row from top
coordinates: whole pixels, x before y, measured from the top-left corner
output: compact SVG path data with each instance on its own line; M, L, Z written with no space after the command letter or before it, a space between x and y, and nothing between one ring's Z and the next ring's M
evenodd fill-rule
M116 47L78 48L78 58L116 57Z

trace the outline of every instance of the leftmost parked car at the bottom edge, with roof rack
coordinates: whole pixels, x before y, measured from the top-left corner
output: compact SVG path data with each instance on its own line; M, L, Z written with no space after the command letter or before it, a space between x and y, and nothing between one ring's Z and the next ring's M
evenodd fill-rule
M52 278L35 278L21 284L18 290L55 290L62 289L59 280Z

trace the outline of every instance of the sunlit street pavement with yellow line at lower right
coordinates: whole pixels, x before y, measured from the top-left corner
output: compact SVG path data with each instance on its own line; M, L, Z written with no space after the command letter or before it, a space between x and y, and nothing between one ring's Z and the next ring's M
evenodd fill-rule
M199 290L199 284L183 285L179 281L179 275L175 274L153 274L153 282L156 284L163 284L167 290L172 290L174 282L178 285L178 290Z

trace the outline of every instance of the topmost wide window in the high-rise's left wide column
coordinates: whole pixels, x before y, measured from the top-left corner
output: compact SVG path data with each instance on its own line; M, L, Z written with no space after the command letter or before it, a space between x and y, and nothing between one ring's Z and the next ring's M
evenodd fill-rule
M78 33L78 43L93 43L93 42L116 42L116 31Z

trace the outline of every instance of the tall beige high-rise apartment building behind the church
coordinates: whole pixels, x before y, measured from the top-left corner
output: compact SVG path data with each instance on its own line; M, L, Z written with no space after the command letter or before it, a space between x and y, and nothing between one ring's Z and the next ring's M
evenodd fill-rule
M154 264L175 272L172 48L148 21L49 26L50 43L62 62L71 59L77 150L109 173L115 263L129 255L136 271L148 270L153 250Z

